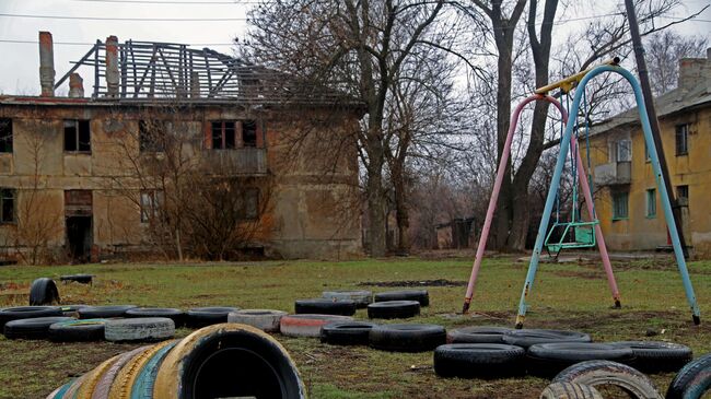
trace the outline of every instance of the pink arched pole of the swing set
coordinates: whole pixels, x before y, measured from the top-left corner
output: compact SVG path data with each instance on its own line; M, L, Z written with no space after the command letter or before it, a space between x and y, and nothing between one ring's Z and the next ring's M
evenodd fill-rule
M534 94L529 97L526 97L521 104L516 106L511 117L511 125L509 126L509 131L506 132L506 141L503 146L503 153L501 154L501 161L499 162L499 168L497 171L497 178L493 183L493 190L491 192L491 198L489 199L489 207L487 208L487 216L483 221L483 227L481 228L481 236L479 237L479 245L477 246L477 254L474 259L474 266L471 267L471 275L469 277L469 283L467 284L467 293L464 297L464 306L462 307L462 313L466 314L469 310L469 305L471 304L471 296L474 295L474 286L477 282L477 275L479 274L479 269L481 268L481 260L483 258L483 251L487 246L487 240L489 238L489 231L491 230L491 222L493 221L493 213L497 210L497 200L499 199L499 191L501 190L501 184L503 183L503 175L505 173L505 166L509 162L509 156L511 154L511 143L513 141L513 134L516 130L516 124L518 124L518 117L523 108L534 101L546 101L558 108L560 112L563 122L568 124L568 112L562 107L562 105L553 97L543 94ZM587 175L583 168L583 161L580 155L580 151L576 151L575 148L575 137L571 139L573 144L573 151L576 154L578 163L578 176L583 186L583 196L585 197L585 204L587 206L587 213L591 221L595 219L594 209L593 209L593 198L590 191L590 184L587 181ZM603 231L598 224L595 224L595 237L597 239L597 245L599 248L601 258L603 259L603 266L605 268L605 273L607 274L607 282L613 291L613 298L615 300L615 306L619 307L619 291L617 289L617 283L615 281L615 275L613 274L613 266L609 261L609 255L607 254L607 246L605 245L605 239L603 237Z

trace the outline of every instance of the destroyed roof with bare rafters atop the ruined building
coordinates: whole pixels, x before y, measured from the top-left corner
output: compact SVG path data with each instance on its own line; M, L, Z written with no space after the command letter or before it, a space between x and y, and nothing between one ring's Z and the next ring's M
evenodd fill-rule
M114 92L109 90L106 79L107 72L110 73L107 71L107 47L110 48L112 43L107 46L101 40L73 62L74 67L57 81L55 89L79 67L88 66L94 73L93 99L361 105L357 98L336 90L300 81L209 48L135 40L116 43L115 46L119 75L117 93L115 89Z

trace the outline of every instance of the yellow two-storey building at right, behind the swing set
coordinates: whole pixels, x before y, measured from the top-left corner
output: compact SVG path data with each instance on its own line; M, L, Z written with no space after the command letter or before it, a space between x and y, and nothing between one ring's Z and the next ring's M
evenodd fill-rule
M677 89L658 96L655 108L687 246L710 257L711 212L706 201L711 198L711 49L708 58L680 60ZM590 141L595 206L608 247L671 246L638 109L597 126Z

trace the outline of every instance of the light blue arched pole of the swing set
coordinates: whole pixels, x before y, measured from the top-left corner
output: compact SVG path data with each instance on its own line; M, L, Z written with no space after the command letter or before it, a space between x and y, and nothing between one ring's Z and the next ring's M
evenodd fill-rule
M652 162L652 167L654 169L654 177L656 180L656 187L660 190L662 198L662 208L664 209L664 218L666 220L666 225L672 236L672 245L674 246L674 256L676 258L677 268L679 269L679 274L681 275L681 281L684 283L684 291L686 292L686 298L691 307L692 319L695 324L699 324L701 320L701 313L699 310L699 305L696 301L696 295L693 294L693 286L691 285L691 279L689 278L689 271L686 267L686 260L684 259L684 251L681 249L681 244L679 243L678 232L676 230L676 224L674 223L674 214L672 212L672 204L669 203L669 197L666 192L666 186L664 184L664 178L662 176L662 167L660 166L660 160L656 153L656 148L654 146L654 141L652 139L652 129L650 126L649 116L646 114L646 108L644 107L644 97L642 96L642 91L639 82L628 70L609 64L602 64L595 67L582 77L575 91L575 96L573 98L572 108L569 110L570 115L578 115L580 108L580 102L582 95L585 91L585 85L587 82L595 78L596 75L603 72L615 72L621 74L632 86L634 92L634 99L637 101L637 108L640 114L640 121L642 124L642 131L644 133L644 142L650 154ZM536 244L531 257L531 263L528 265L528 272L526 274L526 281L524 283L523 292L521 293L521 301L518 302L518 315L516 316L516 328L523 328L523 322L526 317L526 310L528 305L526 305L526 297L531 294L533 290L533 283L536 277L536 270L538 269L538 261L540 259L540 251L543 249L544 238L546 236L546 231L548 228L548 221L550 220L550 213L552 211L553 202L556 201L556 195L560 187L560 177L563 172L563 166L566 164L566 156L570 150L570 139L573 133L573 126L575 118L568 119L566 125L566 132L563 138L560 141L560 152L558 153L558 160L556 162L556 169L553 171L553 177L550 183L550 188L548 190L548 196L546 197L546 207L544 208L544 214L540 219L540 225L538 226L538 234L536 235Z

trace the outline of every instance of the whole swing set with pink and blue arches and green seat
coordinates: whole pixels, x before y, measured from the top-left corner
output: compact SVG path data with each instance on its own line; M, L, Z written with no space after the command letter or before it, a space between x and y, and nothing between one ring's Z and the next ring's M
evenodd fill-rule
M499 198L499 192L501 190L501 184L503 181L506 164L511 154L511 143L513 140L513 133L516 129L518 122L518 117L522 109L529 103L535 101L544 101L552 104L561 114L561 121L564 126L564 129L561 131L560 137L560 151L558 153L558 159L556 161L556 167L553 171L553 176L548 189L548 195L546 197L546 206L544 208L543 216L540 219L540 224L538 226L538 234L536 235L536 244L534 246L533 254L531 256L531 262L528 265L528 272L526 273L526 280L524 282L524 287L521 293L521 300L518 303L518 313L516 316L516 328L523 328L523 322L526 317L526 310L528 305L526 304L526 298L533 290L533 283L536 277L536 270L538 269L538 262L540 260L540 254L544 248L549 254L555 254L557 257L560 251L563 249L579 249L579 248L592 248L597 246L605 273L607 275L607 282L610 291L613 292L613 300L615 302L615 307L621 307L620 304L620 294L615 281L615 275L613 273L613 267L609 261L609 255L607 253L607 247L605 245L605 238L603 237L603 232L599 225L595 213L595 204L592 198L593 187L590 184L592 179L591 176L585 172L583 166L583 161L580 154L580 149L578 145L578 139L580 138L581 124L578 120L578 115L580 110L581 101L583 102L584 107L584 137L586 145L586 157L587 157L587 172L591 171L591 161L590 161L590 126L588 126L588 115L587 115L587 99L585 96L585 85L587 82L595 78L596 75L605 72L613 72L622 75L631 85L634 93L634 99L637 101L638 110L640 115L640 121L642 124L642 131L644 133L644 142L648 149L648 153L652 163L654 171L656 186L660 191L660 197L662 200L662 208L664 210L664 216L667 224L667 230L672 238L672 244L674 247L674 256L676 259L677 268L684 283L684 290L686 293L687 302L691 308L691 316L693 324L699 325L701 322L700 309L696 301L693 293L693 286L691 285L691 280L689 278L689 272L686 266L686 260L684 258L684 253L681 245L679 243L678 232L674 223L674 214L672 213L672 206L669 203L668 195L666 191L666 186L664 184L664 178L662 176L662 168L660 165L660 160L657 155L657 149L654 145L652 138L652 129L650 126L649 116L646 115L646 109L644 108L644 97L642 96L642 91L637 79L626 69L618 66L619 58L615 58L599 66L590 68L582 72L579 72L574 75L566 78L559 82L549 84L547 86L537 89L535 94L525 98L521 104L516 106L511 117L511 125L506 133L506 140L504 142L503 153L501 154L501 160L499 162L499 168L497 169L497 177L493 185L493 190L491 192L491 198L489 199L489 207L487 209L487 215L483 222L481 230L481 235L479 237L479 245L477 247L476 257L474 265L471 267L471 275L469 278L469 283L467 285L466 295L464 298L463 314L466 314L469 310L471 304L471 297L474 296L474 287L476 285L477 275L481 267L481 261L483 258L483 251L487 246L487 240L489 237L489 231L491 228L491 222L493 220L493 214L497 208L497 200ZM560 90L561 94L568 95L573 87L575 87L572 106L568 107L568 110L552 96L548 95L549 92L553 90ZM573 118L568 117L569 113L573 115ZM662 149L660 149L662 151ZM561 221L561 207L559 198L559 188L560 181L562 178L563 168L566 167L568 161L568 155L570 154L570 171L572 178L572 206L570 211L570 220ZM578 186L580 186L581 191L583 192L585 208L587 209L588 220L584 221L580 218L580 209L578 207ZM551 222L551 213L556 206L556 220L548 228ZM560 235L556 235L556 232L560 232Z

